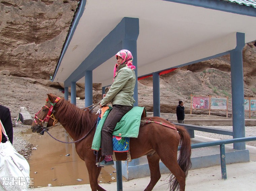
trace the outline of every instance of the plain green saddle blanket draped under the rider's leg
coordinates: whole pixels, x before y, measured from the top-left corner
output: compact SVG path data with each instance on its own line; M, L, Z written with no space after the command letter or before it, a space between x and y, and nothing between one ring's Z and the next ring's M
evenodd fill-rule
M99 150L101 145L101 130L106 121L108 113L111 111L112 107L105 111L102 119L97 125L96 132L92 142L92 149ZM117 123L115 130L112 135L117 137L132 137L137 138L139 134L140 119L144 107L135 106L130 111L128 111Z

